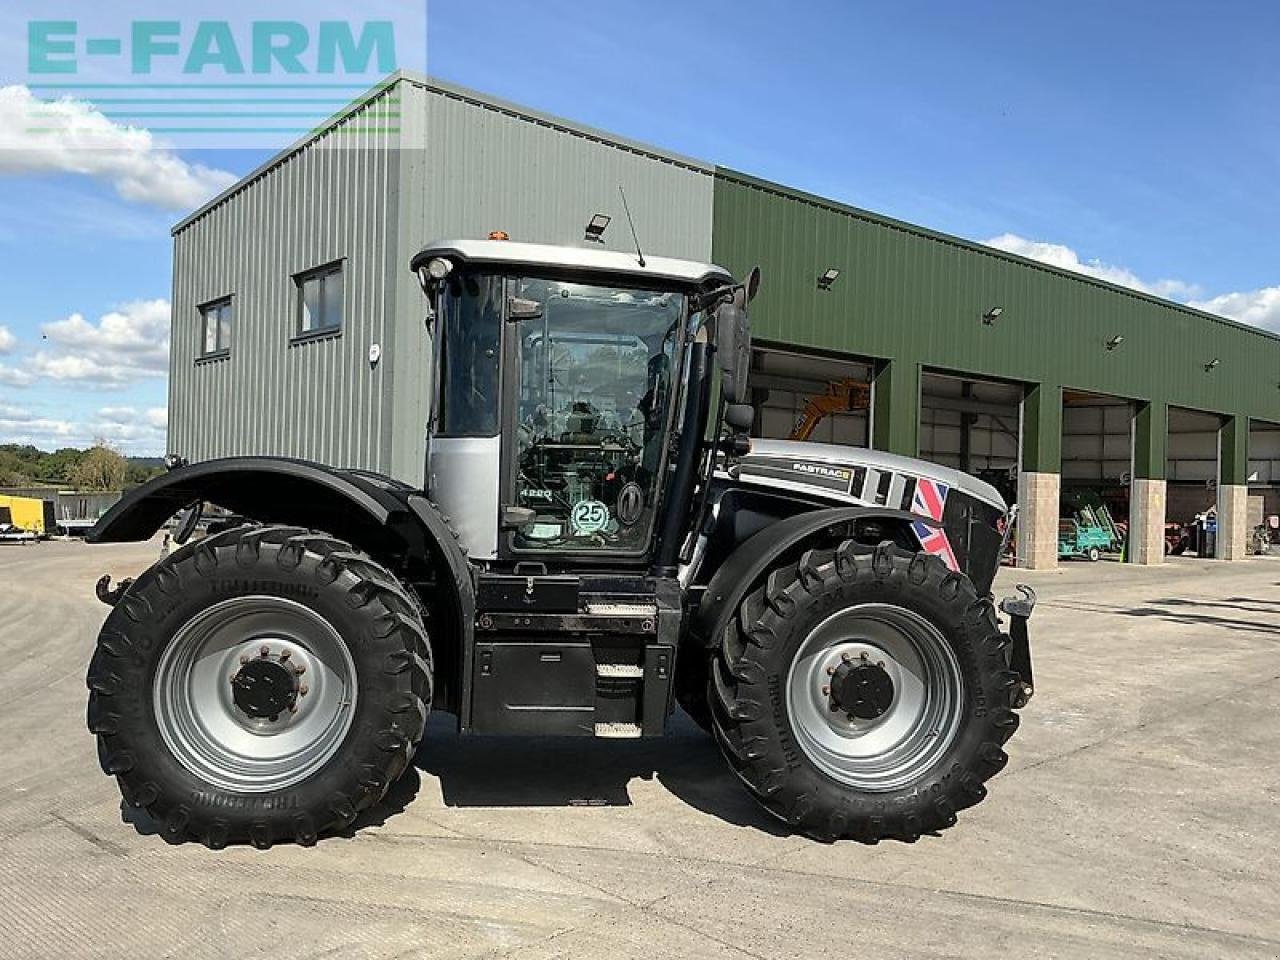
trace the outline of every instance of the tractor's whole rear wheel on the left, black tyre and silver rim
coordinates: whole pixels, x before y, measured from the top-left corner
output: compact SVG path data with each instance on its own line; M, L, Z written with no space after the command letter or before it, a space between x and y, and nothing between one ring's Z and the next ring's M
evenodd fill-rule
M168 840L310 845L408 768L431 653L417 602L369 557L241 526L129 585L88 687L102 769Z

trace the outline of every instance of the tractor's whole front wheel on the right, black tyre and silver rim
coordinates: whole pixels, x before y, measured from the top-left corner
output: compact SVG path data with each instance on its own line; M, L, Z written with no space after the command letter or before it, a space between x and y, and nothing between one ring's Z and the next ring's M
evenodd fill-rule
M890 544L810 550L753 591L712 663L716 736L767 810L823 841L914 841L986 796L1018 728L989 600Z

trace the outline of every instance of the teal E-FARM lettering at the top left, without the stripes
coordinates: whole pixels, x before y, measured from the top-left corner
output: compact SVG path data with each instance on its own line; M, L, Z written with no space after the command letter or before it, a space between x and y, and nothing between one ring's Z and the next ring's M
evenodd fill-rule
M151 77L157 60L179 64L187 77L219 78L362 74L371 64L388 74L397 65L390 20L321 20L314 35L297 20L255 20L248 24L248 49L242 49L228 20L134 20L125 32L125 37L82 37L76 20L32 20L27 24L27 72L32 77L79 73L81 58L125 58L136 78Z

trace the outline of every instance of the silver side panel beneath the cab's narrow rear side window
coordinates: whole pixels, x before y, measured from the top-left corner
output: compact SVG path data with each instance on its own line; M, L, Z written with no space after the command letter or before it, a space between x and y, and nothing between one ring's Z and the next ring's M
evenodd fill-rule
M428 493L472 559L498 556L499 436L434 436Z

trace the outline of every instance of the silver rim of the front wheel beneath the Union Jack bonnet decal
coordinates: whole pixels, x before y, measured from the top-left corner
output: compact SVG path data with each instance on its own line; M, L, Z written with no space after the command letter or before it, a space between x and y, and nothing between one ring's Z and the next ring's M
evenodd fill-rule
M874 719L831 708L831 672L877 664L893 684ZM960 730L964 681L942 632L911 611L861 604L833 613L805 637L787 676L787 719L804 754L828 777L864 791L899 790L929 769Z

